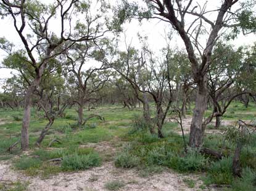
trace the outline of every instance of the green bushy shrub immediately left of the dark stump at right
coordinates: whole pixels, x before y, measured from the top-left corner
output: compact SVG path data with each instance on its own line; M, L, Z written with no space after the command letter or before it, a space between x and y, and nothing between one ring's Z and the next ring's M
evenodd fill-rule
M231 184L233 181L232 158L222 158L212 163L206 184Z

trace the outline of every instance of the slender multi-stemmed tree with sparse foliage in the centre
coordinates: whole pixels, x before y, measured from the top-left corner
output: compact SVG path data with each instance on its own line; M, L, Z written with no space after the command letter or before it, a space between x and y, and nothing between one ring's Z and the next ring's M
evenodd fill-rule
M163 49L164 59L154 57L146 48L141 53L129 45L126 52L118 52L118 59L112 67L133 87L134 93L143 104L144 119L151 124L150 131L157 126L159 138L163 138L162 127L173 101L171 80L170 49ZM151 119L149 100L151 96L155 103L155 117Z

